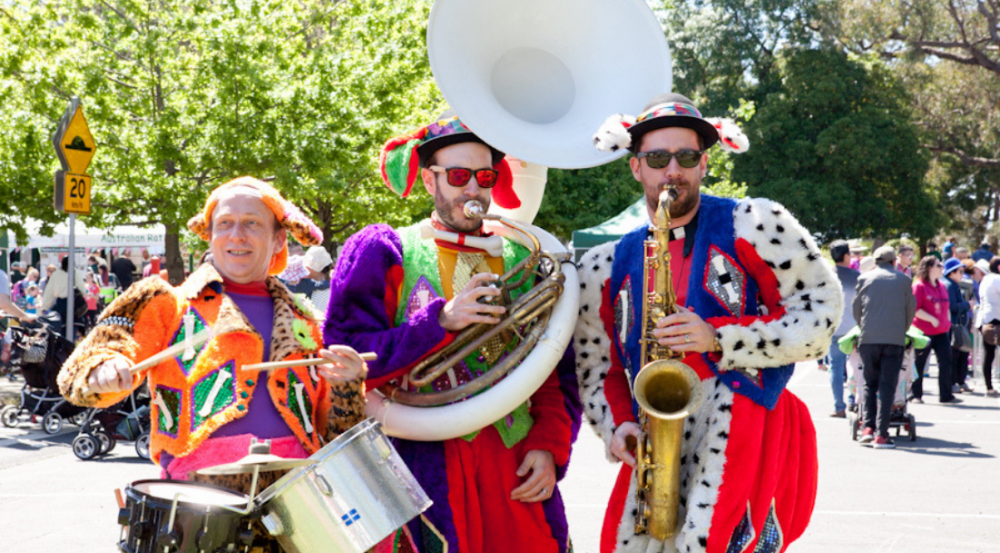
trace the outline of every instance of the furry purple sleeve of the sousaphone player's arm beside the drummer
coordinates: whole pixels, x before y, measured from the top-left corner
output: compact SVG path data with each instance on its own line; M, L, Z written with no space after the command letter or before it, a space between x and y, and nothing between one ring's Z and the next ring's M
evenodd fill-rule
M369 380L412 365L447 336L438 323L444 298L431 300L393 327L386 312L386 285L389 272L398 267L401 274L402 265L399 235L388 225L372 225L347 240L330 279L323 341L378 354L368 364Z

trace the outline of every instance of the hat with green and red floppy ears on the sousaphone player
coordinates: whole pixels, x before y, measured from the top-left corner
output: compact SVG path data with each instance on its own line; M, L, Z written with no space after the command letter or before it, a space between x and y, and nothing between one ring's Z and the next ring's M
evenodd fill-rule
M391 138L382 146L379 154L382 180L393 192L405 198L410 195L420 168L427 167L434 152L462 142L478 142L493 154L493 169L498 173L497 183L491 189L493 201L505 209L521 207L521 200L514 193L514 179L504 153L476 136L450 110L430 125Z

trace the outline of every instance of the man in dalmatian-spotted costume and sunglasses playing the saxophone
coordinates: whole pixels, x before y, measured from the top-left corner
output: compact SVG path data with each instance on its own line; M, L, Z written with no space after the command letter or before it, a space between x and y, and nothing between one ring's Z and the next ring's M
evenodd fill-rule
M821 357L842 311L836 276L809 233L767 199L700 192L706 150L747 148L730 122L701 116L680 94L654 98L637 118L613 116L594 137L628 148L632 176L653 220L669 203L673 313L643 329L647 225L588 252L580 263L574 336L581 400L608 458L623 466L605 513L601 552L784 551L800 536L816 495L815 431L785 386L796 361ZM632 384L640 338L680 354L697 373L701 404L680 434L676 534L637 533L639 409ZM694 386L699 385L696 379ZM655 446L654 446L655 447Z

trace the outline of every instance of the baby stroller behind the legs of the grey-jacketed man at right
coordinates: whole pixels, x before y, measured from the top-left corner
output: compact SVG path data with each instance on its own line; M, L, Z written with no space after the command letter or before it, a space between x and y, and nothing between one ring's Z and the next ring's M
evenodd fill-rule
M862 373L861 354L858 353L856 341L860 334L860 329L854 327L840 339L838 347L840 351L848 355L848 381L847 386L851 394L857 398L857 404L853 406L847 415L847 422L851 428L851 439L858 440L861 434L861 426L864 423L864 374ZM927 347L929 340L924 333L916 327L910 327L906 332L906 346L903 350L903 365L899 371L899 380L896 384L896 393L892 401L892 412L889 414L889 428L896 430L896 437L903 432L907 433L910 441L917 439L917 419L907 409L906 398L913 385L914 365L916 363L916 353L914 349Z

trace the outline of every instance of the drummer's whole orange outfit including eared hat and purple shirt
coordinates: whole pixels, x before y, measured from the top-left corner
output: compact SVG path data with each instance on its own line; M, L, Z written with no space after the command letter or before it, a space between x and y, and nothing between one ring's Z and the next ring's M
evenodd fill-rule
M207 240L207 221L220 191L236 186L256 189L278 222L299 241L315 244L322 240L319 229L276 190L248 177L217 188L204 212L189 223L192 230ZM282 248L270 260L271 275L285 268L287 250ZM199 468L245 456L251 439L246 432L260 435L259 423L271 425L268 437L273 438L272 453L308 456L363 420L363 383L357 380L331 387L318 377L315 368L243 371L244 365L263 361L265 351L269 351L271 361L294 360L315 357L323 344L311 305L274 276L258 284L260 295L268 302L265 305L273 308L263 315L269 323L273 321L267 348L261 332L248 319L250 315L241 311L238 299L228 293L230 286L239 290L240 285L227 283L215 266L206 263L179 287L159 277L147 278L112 302L63 366L60 391L77 405L113 405L129 392L96 394L87 385L91 373L102 363L118 355L138 363L210 328L213 335L207 342L133 378L133 389L144 378L149 382L152 459L167 476L186 479ZM273 418L265 420L249 412L251 401L260 394L264 396L254 405L273 404L275 414L265 415ZM227 429L226 425L245 417L248 428ZM239 429L238 434L233 434L234 428ZM248 478L237 480L225 483L245 490Z

